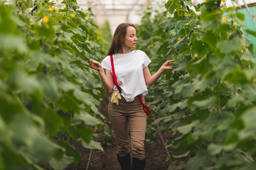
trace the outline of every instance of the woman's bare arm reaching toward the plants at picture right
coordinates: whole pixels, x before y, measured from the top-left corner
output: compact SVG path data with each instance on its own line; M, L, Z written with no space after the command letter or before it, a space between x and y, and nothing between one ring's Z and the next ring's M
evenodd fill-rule
M144 74L144 79L145 83L147 86L152 86L155 84L155 82L159 79L159 77L163 74L164 70L171 70L173 67L171 63L173 60L166 61L160 68L159 70L151 76L150 71L148 69L148 66L143 68L143 74Z

